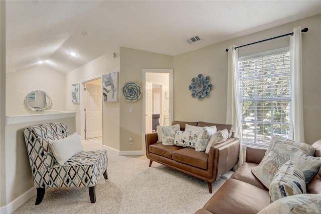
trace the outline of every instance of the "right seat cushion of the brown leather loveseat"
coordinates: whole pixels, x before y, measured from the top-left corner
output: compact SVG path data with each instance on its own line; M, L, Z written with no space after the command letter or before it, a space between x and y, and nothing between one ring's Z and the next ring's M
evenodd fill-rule
M184 148L173 152L173 160L207 170L209 156L193 148Z

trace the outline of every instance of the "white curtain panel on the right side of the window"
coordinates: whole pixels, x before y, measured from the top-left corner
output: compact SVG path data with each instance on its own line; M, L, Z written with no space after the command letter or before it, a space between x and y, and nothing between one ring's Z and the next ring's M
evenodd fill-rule
M290 69L292 89L293 140L304 143L302 95L302 36L301 27L290 36Z

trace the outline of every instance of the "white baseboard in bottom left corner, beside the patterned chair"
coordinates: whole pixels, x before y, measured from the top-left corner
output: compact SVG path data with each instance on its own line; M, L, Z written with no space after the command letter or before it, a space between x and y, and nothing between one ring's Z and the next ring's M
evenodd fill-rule
M37 190L35 187L32 187L19 197L17 197L15 200L11 201L9 204L6 206L2 206L0 208L0 213L1 214L11 214L13 213L16 209L18 209L20 206L22 206L24 203L26 203L30 198L35 196L37 194Z

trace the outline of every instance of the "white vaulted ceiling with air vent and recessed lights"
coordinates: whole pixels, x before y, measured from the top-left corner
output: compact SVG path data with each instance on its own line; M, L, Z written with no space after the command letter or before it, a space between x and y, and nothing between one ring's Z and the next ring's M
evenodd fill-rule
M317 14L321 1L7 1L6 70L67 73L119 47L175 56Z

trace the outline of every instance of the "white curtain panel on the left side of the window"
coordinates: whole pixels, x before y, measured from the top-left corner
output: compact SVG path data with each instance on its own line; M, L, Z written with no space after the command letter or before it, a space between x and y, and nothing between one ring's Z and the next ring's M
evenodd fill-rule
M238 166L243 164L242 126L239 102L239 63L238 51L235 45L229 47L228 77L227 77L227 112L226 124L233 125L234 137L240 139L240 155Z

